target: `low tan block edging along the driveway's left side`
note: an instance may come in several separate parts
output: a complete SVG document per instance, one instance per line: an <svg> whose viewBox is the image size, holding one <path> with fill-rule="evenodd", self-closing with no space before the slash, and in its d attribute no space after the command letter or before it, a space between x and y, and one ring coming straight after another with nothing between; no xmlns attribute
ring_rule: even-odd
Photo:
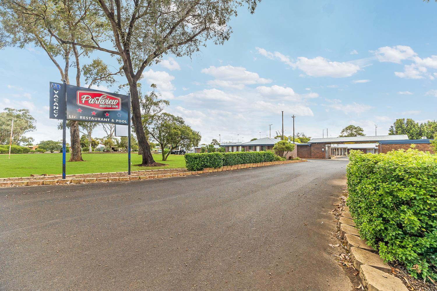
<svg viewBox="0 0 437 291"><path fill-rule="evenodd" d="M96 182L110 182L110 181L133 181L133 180L147 180L147 179L160 179L160 178L171 178L171 177L181 177L189 175L198 175L203 173L213 173L221 171L230 171L236 169L254 168L271 166L277 164L291 164L306 162L307 160L289 160L289 161L273 161L255 164L238 164L233 166L223 166L220 168L204 168L202 171L187 171L172 174L160 174L160 175L144 175L144 176L126 176L126 177L102 177L102 178L73 178L74 175L67 175L66 179L52 179L52 180L31 180L31 181L3 181L0 182L0 187L10 187L10 186L36 186L36 185L60 185L60 184L79 184L79 183L96 183ZM134 171L132 171L134 172ZM135 171L141 172L141 171ZM120 173L120 172L113 172ZM111 173L108 173L111 174ZM86 175L86 174L78 174ZM69 178L70 176L71 178ZM31 178L31 177L23 177ZM33 177L32 177L33 178Z"/></svg>

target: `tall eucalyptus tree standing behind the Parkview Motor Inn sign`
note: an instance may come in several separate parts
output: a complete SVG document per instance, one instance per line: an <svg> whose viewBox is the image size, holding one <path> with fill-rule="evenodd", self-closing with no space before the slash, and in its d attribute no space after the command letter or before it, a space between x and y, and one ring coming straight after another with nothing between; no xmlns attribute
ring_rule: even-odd
<svg viewBox="0 0 437 291"><path fill-rule="evenodd" d="M65 80L67 84L70 84L69 67L74 65L76 86L80 86L80 56L89 53L90 48L81 47L79 50L73 43L90 41L86 39L89 37L88 31L78 29L78 24L84 19L92 23L89 19L95 16L94 13L89 12L92 3L94 2L81 1L80 5L73 5L74 3L68 0L63 2L0 0L1 28L3 28L0 34L0 46L24 48L26 45L33 44L42 48L59 70L60 80ZM72 15L80 17L76 18ZM53 33L59 35L59 38L53 38L51 35ZM60 38L69 40L69 43L60 41ZM78 121L70 121L69 129L71 142L69 161L83 161Z"/></svg>

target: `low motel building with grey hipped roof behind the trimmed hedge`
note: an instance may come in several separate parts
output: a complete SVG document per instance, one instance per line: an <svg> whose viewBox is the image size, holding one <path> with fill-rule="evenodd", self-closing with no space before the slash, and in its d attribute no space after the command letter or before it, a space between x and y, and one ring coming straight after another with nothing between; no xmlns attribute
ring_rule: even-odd
<svg viewBox="0 0 437 291"><path fill-rule="evenodd" d="M229 142L229 143L221 143L220 146L225 148L225 152L234 152L234 151L269 151L273 150L274 144L276 144L281 139L272 138L272 137L264 137L257 140L248 141L246 143L242 142ZM298 144L298 143L295 143ZM293 151L288 152L287 157L297 157L297 147Z"/></svg>

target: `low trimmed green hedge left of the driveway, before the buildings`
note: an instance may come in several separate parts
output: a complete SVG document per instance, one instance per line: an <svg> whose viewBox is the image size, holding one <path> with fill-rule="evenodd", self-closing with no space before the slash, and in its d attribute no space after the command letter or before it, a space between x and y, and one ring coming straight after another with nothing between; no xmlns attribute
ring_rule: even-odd
<svg viewBox="0 0 437 291"><path fill-rule="evenodd" d="M253 164L274 161L274 154L268 151L237 151L231 153L185 154L185 163L190 171L203 168L219 168L236 164Z"/></svg>

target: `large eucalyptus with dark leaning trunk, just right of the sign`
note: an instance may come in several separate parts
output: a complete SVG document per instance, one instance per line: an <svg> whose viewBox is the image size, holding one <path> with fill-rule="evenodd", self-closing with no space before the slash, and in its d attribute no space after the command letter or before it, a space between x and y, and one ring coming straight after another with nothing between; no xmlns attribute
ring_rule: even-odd
<svg viewBox="0 0 437 291"><path fill-rule="evenodd" d="M10 1L10 0L3 0ZM42 1L42 0L40 0ZM82 0L64 0L82 6ZM228 22L247 5L250 13L260 0L94 0L99 7L90 10L92 17L76 13L57 15L77 24L76 31L88 33L83 40L68 38L59 31L49 33L62 44L80 46L106 52L118 60L129 84L132 102L132 123L142 151L142 164L153 164L152 154L144 133L138 92L138 81L147 66L160 62L163 54L191 56L206 46L208 41L218 45L230 37ZM47 2L41 2L46 5ZM47 5L46 5L47 6ZM51 17L50 7L45 11L26 11L38 14L43 22ZM52 20L51 20L52 21ZM54 21L56 22L56 21ZM97 24L97 25L96 25ZM99 25L103 24L103 25ZM100 26L100 27L99 27ZM99 29L96 30L96 27ZM105 34L110 41L95 36ZM91 40L89 42L88 40ZM111 45L112 46L111 46Z"/></svg>

